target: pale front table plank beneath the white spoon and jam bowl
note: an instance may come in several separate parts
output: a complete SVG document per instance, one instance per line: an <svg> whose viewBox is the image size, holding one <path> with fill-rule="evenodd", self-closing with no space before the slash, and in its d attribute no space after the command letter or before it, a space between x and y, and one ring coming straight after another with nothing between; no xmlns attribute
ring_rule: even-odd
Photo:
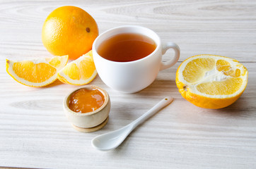
<svg viewBox="0 0 256 169"><path fill-rule="evenodd" d="M256 151L256 73L255 63L245 66L252 72L245 93L235 104L220 110L197 108L180 96L174 82L178 65L159 73L150 87L136 94L115 92L97 77L92 84L109 92L112 108L109 123L89 134L74 130L64 116L62 100L73 86L55 82L50 87L35 89L1 73L7 85L1 85L0 96L0 164L100 168L115 163L112 168L141 165L156 168L165 163L163 168L173 165L205 168L206 163L215 161L212 168L231 168L240 163L250 167L255 165ZM175 98L173 104L132 132L118 149L112 152L93 149L93 137L127 125L166 95Z"/></svg>

